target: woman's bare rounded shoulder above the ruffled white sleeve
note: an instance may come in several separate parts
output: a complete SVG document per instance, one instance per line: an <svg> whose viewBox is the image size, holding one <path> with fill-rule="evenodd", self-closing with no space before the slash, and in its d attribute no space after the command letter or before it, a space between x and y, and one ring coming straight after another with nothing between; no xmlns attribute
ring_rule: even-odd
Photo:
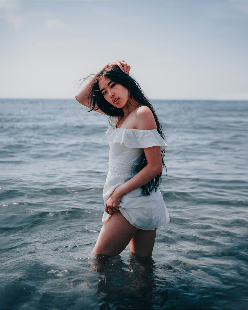
<svg viewBox="0 0 248 310"><path fill-rule="evenodd" d="M136 129L157 129L157 124L152 111L147 106L141 106L136 110Z"/></svg>

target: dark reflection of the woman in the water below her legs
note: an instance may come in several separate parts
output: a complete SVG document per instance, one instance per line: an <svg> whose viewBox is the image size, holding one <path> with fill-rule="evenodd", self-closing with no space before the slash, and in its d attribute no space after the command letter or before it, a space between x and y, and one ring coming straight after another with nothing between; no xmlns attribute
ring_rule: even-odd
<svg viewBox="0 0 248 310"><path fill-rule="evenodd" d="M97 295L100 309L151 309L155 286L155 263L152 257L129 255L97 256L91 267L99 274Z"/></svg>

